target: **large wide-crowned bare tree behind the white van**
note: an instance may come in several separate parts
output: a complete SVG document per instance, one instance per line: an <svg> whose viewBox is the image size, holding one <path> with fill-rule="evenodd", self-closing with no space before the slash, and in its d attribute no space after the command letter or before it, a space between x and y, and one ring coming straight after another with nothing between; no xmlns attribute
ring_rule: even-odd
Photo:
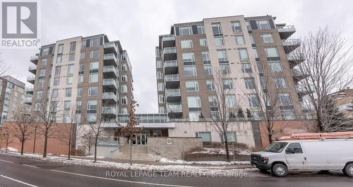
<svg viewBox="0 0 353 187"><path fill-rule="evenodd" d="M327 106L330 93L352 84L352 46L347 45L341 33L323 28L304 37L293 55L298 71L307 76L299 85L308 92L308 100L315 113L316 131L345 130L331 126L339 124L341 119L335 119Z"/></svg>

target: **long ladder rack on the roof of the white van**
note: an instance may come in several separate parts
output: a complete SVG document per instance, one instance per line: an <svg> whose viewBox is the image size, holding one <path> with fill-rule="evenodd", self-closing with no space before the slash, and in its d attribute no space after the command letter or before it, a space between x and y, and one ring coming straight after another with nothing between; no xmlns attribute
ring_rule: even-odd
<svg viewBox="0 0 353 187"><path fill-rule="evenodd" d="M282 136L277 140L312 140L312 139L343 139L353 138L353 131L335 133L294 133L289 136Z"/></svg>

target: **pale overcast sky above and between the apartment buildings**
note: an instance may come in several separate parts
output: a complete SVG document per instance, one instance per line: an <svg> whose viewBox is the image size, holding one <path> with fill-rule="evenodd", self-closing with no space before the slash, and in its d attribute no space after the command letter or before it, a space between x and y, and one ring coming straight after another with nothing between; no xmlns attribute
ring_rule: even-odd
<svg viewBox="0 0 353 187"><path fill-rule="evenodd" d="M132 64L138 113L157 113L155 46L158 36L169 34L174 23L220 16L277 17L275 23L294 25L292 38L301 38L328 26L353 45L353 1L238 1L238 0L42 0L42 45L76 36L106 34L120 40ZM30 56L37 49L0 49L8 75L24 83ZM26 83L30 85L30 83Z"/></svg>

